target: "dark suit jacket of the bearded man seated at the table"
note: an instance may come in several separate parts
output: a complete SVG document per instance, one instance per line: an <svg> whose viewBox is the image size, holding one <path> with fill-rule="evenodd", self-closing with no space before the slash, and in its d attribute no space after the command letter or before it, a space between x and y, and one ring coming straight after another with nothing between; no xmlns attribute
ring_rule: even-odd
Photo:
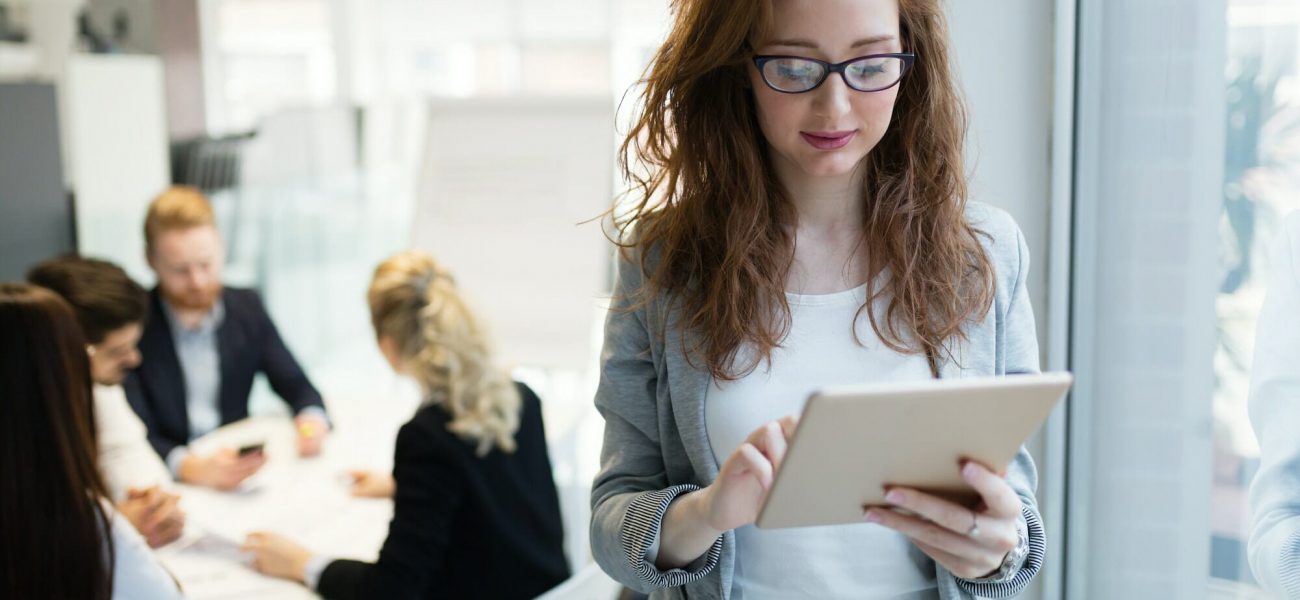
<svg viewBox="0 0 1300 600"><path fill-rule="evenodd" d="M177 445L190 442L190 416L186 408L185 373L172 339L172 326L162 312L157 288L151 294L151 309L140 336L140 366L122 386L131 408L150 431L150 443L166 458ZM280 339L276 325L252 290L228 287L221 291L225 319L217 327L217 355L221 362L221 423L248 416L248 392L257 373L265 373L272 390L296 414L307 406L321 406L320 392Z"/></svg>

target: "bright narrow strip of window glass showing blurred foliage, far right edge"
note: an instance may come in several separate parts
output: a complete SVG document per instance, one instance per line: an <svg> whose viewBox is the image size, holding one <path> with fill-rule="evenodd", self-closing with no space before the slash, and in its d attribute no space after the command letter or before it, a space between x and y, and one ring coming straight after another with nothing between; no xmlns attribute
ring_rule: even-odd
<svg viewBox="0 0 1300 600"><path fill-rule="evenodd" d="M1227 27L1210 577L1231 590L1254 581L1247 491L1260 448L1245 408L1266 253L1275 225L1300 209L1300 5L1232 0Z"/></svg>

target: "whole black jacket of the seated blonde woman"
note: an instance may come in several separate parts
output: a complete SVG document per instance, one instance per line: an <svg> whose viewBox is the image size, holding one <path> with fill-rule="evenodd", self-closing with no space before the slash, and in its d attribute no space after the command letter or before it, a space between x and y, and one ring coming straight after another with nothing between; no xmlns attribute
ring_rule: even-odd
<svg viewBox="0 0 1300 600"><path fill-rule="evenodd" d="M421 408L402 426L393 522L377 562L335 560L321 571L328 599L532 599L568 578L564 527L537 395L516 383L517 449L474 455L447 431L448 414Z"/></svg>

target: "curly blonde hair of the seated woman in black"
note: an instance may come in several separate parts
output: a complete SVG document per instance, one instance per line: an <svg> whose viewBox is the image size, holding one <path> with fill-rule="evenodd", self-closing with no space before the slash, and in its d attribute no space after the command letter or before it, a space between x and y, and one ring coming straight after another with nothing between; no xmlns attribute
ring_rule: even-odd
<svg viewBox="0 0 1300 600"><path fill-rule="evenodd" d="M374 269L368 292L377 338L396 343L402 360L429 395L451 414L447 430L477 447L515 451L520 396L506 371L491 364L486 335L432 256L408 251Z"/></svg>

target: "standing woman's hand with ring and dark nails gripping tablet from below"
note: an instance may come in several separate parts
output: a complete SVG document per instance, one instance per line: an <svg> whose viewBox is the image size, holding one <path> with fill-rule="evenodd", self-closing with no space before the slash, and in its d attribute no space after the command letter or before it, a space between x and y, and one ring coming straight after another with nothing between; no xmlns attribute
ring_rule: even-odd
<svg viewBox="0 0 1300 600"><path fill-rule="evenodd" d="M930 494L892 487L885 500L915 516L883 506L867 509L870 522L906 535L916 548L962 579L989 577L1019 542L1020 497L1001 477L967 461L962 478L984 499L972 510Z"/></svg>

